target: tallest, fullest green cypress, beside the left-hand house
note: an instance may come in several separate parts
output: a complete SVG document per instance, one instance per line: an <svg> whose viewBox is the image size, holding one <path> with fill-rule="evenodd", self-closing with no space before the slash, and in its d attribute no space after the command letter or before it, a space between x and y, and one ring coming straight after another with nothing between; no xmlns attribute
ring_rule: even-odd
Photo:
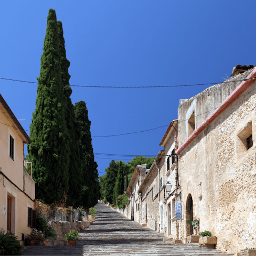
<svg viewBox="0 0 256 256"><path fill-rule="evenodd" d="M33 162L36 198L51 204L68 192L69 148L65 122L67 101L61 79L61 53L56 13L49 10L36 108L30 125L28 161Z"/></svg>

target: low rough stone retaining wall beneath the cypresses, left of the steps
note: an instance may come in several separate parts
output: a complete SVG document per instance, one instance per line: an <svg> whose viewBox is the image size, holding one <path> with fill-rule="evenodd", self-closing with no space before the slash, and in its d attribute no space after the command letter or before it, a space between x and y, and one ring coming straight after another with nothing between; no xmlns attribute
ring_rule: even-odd
<svg viewBox="0 0 256 256"><path fill-rule="evenodd" d="M72 230L80 231L82 229L89 227L91 224L91 221L77 221L76 223L67 221L51 221L49 223L49 226L53 228L55 234L57 235L57 239L49 239L47 245L64 244L66 243L65 234L70 233Z"/></svg>

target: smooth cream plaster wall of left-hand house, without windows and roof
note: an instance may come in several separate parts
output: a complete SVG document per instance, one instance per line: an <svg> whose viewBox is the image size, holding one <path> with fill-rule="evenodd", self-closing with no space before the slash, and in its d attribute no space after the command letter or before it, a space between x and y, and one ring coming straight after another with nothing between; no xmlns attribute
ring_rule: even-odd
<svg viewBox="0 0 256 256"><path fill-rule="evenodd" d="M13 126L6 114L0 111L0 122ZM10 135L14 139L14 160L9 156ZM10 179L0 174L0 228L7 229L7 195L12 197L11 231L21 240L21 234L28 235L31 228L27 226L28 207L34 209L35 181L23 168L23 142L14 127L0 125L0 171ZM25 195L25 193L27 195ZM30 197L30 198L29 198Z"/></svg>

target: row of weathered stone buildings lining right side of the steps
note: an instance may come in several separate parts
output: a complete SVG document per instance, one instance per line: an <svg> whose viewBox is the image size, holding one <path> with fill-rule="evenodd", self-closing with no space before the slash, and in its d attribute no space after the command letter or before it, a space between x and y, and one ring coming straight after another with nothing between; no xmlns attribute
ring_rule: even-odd
<svg viewBox="0 0 256 256"><path fill-rule="evenodd" d="M180 100L164 149L143 180L133 174L141 201L134 220L184 243L195 235L187 221L198 220L199 231L218 238L218 249L256 247L256 67L241 67L233 78Z"/></svg>

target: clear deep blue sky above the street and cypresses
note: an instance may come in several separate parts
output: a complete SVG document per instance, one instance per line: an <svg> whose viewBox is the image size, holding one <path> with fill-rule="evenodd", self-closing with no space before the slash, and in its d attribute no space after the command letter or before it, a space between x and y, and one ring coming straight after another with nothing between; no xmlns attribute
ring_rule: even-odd
<svg viewBox="0 0 256 256"><path fill-rule="evenodd" d="M0 77L36 82L52 8L63 25L70 85L219 83L238 64L256 65L255 7L255 0L5 1L0 10ZM91 134L97 137L169 125L178 117L179 100L208 86L72 87L71 100L86 102ZM0 93L14 115L27 119L20 121L25 130L36 89L36 84L0 79ZM166 129L93 138L94 153L157 155ZM111 159L127 162L132 157L95 155L99 175Z"/></svg>

